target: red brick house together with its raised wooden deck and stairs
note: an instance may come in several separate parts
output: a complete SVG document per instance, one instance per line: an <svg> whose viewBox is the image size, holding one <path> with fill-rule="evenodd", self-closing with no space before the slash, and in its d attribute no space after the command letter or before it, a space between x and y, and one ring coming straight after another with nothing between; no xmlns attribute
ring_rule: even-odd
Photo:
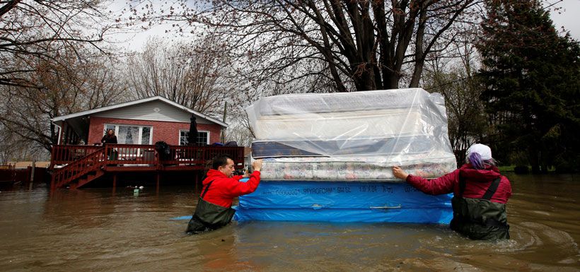
<svg viewBox="0 0 580 272"><path fill-rule="evenodd" d="M197 143L190 145L193 118ZM160 96L66 114L52 124L59 135L50 159L52 189L79 188L98 179L115 188L117 179L133 179L138 173L155 177L157 189L162 175L179 172L197 183L207 160L219 154L231 156L238 170L244 167L243 147L211 145L220 141L226 123ZM117 144L101 146L109 129ZM167 145L156 145L158 141Z"/></svg>

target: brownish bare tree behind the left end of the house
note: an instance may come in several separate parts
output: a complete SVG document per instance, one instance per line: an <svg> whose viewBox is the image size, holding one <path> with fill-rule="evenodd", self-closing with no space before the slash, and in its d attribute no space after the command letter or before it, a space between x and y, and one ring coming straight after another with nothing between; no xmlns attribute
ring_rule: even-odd
<svg viewBox="0 0 580 272"><path fill-rule="evenodd" d="M50 119L119 102L124 86L108 58L81 61L73 50L58 54L53 57L58 61L26 64L37 71L25 78L35 87L0 85L6 95L0 102L0 124L8 138L18 140L15 143L50 151L57 142L57 130Z"/></svg>

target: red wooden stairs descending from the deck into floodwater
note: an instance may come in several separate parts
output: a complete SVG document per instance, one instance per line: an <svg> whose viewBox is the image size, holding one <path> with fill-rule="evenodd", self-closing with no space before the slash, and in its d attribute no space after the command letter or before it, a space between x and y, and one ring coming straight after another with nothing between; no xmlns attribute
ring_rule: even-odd
<svg viewBox="0 0 580 272"><path fill-rule="evenodd" d="M105 175L102 169L105 166L105 149L99 148L79 160L54 170L52 173L51 188L70 187L79 188Z"/></svg>

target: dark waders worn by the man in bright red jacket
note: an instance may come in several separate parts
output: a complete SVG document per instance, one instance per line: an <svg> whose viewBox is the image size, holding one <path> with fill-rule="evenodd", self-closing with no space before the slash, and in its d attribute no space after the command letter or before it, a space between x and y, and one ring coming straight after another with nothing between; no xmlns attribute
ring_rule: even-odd
<svg viewBox="0 0 580 272"><path fill-rule="evenodd" d="M199 197L195 212L190 223L187 224L186 232L197 234L199 232L219 229L220 227L224 227L224 225L228 225L231 222L231 218L233 218L233 214L236 213L236 210L233 208L222 207L204 200L204 196L212 182L214 181L212 180L207 184L204 192Z"/></svg>

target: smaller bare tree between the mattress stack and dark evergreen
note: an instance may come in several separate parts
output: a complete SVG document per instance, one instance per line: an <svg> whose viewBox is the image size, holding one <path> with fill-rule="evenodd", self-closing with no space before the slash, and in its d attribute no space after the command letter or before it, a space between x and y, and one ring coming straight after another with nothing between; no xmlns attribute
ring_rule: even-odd
<svg viewBox="0 0 580 272"><path fill-rule="evenodd" d="M474 25L465 25L450 52L429 55L423 78L427 90L445 97L449 140L460 164L465 161L465 150L489 132L489 117L480 100L484 87L474 74L480 64L473 43L478 35Z"/></svg>

